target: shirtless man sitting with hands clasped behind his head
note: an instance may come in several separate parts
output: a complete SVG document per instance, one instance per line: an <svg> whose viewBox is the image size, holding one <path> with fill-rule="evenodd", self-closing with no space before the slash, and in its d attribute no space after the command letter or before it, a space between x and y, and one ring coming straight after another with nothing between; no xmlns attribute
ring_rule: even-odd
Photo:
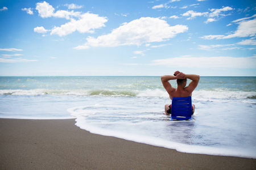
<svg viewBox="0 0 256 170"><path fill-rule="evenodd" d="M187 78L191 79L192 82L189 83L187 87ZM177 88L171 86L168 82L169 80L177 79ZM163 83L163 87L168 92L170 99L172 97L188 97L192 96L192 92L195 90L197 84L199 83L200 76L195 74L184 74L180 71L175 71L174 75L163 75L161 76L161 81ZM192 114L195 112L195 105L192 104ZM171 114L171 105L166 104L164 106L164 111L166 115Z"/></svg>

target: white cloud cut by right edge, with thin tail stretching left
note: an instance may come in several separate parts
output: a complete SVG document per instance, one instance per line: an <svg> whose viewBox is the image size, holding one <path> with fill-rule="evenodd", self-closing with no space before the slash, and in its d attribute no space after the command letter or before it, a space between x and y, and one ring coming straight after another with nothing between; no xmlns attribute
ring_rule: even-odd
<svg viewBox="0 0 256 170"><path fill-rule="evenodd" d="M230 39L234 37L253 37L256 35L256 19L245 20L238 23L237 31L233 34L224 35L208 35L201 37L202 39Z"/></svg>

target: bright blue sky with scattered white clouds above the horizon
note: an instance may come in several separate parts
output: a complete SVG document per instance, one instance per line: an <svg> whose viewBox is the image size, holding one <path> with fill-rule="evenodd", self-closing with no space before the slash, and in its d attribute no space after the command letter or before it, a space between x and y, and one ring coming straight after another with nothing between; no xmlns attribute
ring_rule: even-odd
<svg viewBox="0 0 256 170"><path fill-rule="evenodd" d="M256 76L255 1L0 1L0 75Z"/></svg>

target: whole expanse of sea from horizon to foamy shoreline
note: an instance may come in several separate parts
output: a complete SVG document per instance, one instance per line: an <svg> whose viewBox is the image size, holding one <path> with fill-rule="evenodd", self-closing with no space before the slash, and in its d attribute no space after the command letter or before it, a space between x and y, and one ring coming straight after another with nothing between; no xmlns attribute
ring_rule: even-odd
<svg viewBox="0 0 256 170"><path fill-rule="evenodd" d="M192 103L191 121L170 121L160 76L0 76L1 118L76 118L95 134L256 159L256 77L201 77Z"/></svg>

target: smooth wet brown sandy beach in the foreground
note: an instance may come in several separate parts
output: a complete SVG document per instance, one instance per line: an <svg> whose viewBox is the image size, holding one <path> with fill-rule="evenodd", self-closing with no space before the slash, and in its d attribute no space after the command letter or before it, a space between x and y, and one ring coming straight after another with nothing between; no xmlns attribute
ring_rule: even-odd
<svg viewBox="0 0 256 170"><path fill-rule="evenodd" d="M256 169L255 159L185 154L92 134L74 119L0 119L0 127L0 169Z"/></svg>

